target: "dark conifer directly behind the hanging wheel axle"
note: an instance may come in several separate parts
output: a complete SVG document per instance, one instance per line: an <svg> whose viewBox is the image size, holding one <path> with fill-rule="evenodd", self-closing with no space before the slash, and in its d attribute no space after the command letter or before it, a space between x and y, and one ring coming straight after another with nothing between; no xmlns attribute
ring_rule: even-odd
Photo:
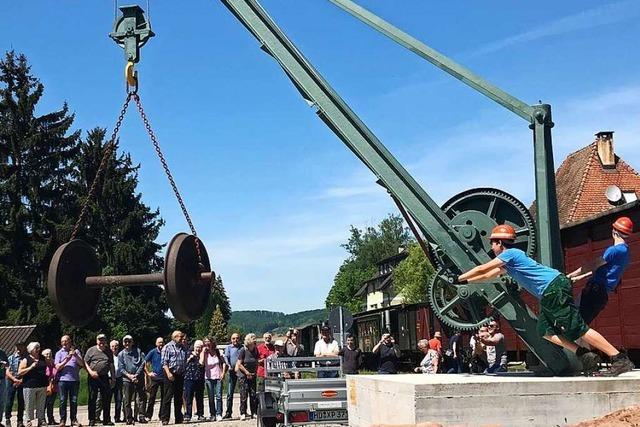
<svg viewBox="0 0 640 427"><path fill-rule="evenodd" d="M76 194L84 200L105 151L105 129L88 132L74 163ZM138 169L129 154L112 153L90 202L86 224L79 238L98 254L103 274L141 274L163 267L155 243L163 221L158 210L146 206L137 192ZM155 286L103 289L94 322L83 329L101 330L116 339L134 335L144 347L169 332L167 303Z"/></svg>

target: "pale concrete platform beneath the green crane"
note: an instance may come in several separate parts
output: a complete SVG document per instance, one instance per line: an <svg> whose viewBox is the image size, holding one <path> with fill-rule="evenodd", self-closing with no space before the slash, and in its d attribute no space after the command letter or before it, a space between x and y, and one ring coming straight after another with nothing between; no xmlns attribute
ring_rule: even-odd
<svg viewBox="0 0 640 427"><path fill-rule="evenodd" d="M615 378L349 375L349 425L562 426L640 404L640 370Z"/></svg>

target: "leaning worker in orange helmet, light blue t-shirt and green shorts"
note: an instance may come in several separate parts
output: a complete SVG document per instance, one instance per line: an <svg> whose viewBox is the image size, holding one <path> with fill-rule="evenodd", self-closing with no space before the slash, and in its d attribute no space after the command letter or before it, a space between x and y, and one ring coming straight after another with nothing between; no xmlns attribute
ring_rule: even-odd
<svg viewBox="0 0 640 427"><path fill-rule="evenodd" d="M598 369L599 357L578 346L575 343L578 338L611 358L612 366L605 375L618 376L632 370L634 365L627 355L619 352L584 322L573 302L570 279L512 247L515 239L516 232L512 226L505 224L494 227L489 240L496 257L458 276L457 282L478 282L508 274L540 301L538 333L546 340L576 353L586 374Z"/></svg>

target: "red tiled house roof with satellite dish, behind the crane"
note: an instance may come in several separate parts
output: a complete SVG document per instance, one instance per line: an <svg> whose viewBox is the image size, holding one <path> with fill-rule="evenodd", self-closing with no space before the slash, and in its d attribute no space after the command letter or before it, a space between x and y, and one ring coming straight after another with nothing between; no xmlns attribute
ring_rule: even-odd
<svg viewBox="0 0 640 427"><path fill-rule="evenodd" d="M556 172L560 224L614 208L604 194L610 185L640 193L640 175L618 156L615 168L603 168L595 142L567 156Z"/></svg>

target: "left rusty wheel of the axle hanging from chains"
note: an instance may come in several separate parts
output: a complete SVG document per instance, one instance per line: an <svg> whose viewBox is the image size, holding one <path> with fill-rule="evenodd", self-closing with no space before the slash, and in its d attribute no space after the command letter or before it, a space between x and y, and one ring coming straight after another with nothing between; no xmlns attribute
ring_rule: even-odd
<svg viewBox="0 0 640 427"><path fill-rule="evenodd" d="M47 290L62 320L84 326L93 319L100 301L100 290L89 289L85 279L98 274L100 263L88 243L76 239L58 248L49 264Z"/></svg>

